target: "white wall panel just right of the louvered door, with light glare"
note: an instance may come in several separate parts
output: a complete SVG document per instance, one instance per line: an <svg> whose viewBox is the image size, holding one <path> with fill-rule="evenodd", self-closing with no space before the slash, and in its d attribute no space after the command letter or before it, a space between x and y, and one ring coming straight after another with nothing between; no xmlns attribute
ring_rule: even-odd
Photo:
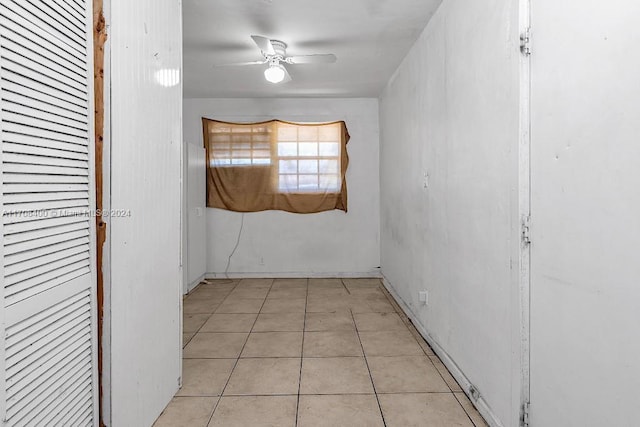
<svg viewBox="0 0 640 427"><path fill-rule="evenodd" d="M110 203L131 216L107 229L107 393L110 425L140 427L153 424L181 375L181 1L110 6Z"/></svg>

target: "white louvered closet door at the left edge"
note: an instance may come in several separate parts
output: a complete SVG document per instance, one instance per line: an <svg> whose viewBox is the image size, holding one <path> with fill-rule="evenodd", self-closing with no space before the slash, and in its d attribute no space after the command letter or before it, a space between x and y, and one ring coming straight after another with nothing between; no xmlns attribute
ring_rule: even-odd
<svg viewBox="0 0 640 427"><path fill-rule="evenodd" d="M97 425L90 0L0 0L6 425Z"/></svg>

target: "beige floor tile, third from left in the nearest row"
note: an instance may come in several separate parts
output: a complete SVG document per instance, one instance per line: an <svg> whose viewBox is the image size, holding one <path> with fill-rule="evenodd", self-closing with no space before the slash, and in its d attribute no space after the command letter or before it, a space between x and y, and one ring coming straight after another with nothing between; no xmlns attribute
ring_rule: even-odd
<svg viewBox="0 0 640 427"><path fill-rule="evenodd" d="M373 394L300 396L299 427L382 427Z"/></svg>

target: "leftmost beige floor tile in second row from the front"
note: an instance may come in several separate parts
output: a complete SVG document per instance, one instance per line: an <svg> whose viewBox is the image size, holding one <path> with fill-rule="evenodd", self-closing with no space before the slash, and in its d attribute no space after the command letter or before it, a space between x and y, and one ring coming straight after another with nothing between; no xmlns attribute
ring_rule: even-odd
<svg viewBox="0 0 640 427"><path fill-rule="evenodd" d="M219 396L236 359L184 359L182 388L176 396Z"/></svg>

